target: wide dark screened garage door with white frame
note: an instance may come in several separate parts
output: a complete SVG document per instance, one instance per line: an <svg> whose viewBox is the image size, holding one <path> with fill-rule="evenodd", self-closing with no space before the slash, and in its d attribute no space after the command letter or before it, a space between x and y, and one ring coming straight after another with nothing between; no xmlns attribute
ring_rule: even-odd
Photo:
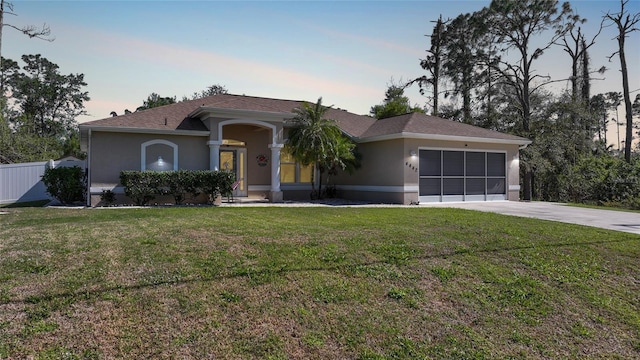
<svg viewBox="0 0 640 360"><path fill-rule="evenodd" d="M420 201L506 200L506 153L420 150Z"/></svg>

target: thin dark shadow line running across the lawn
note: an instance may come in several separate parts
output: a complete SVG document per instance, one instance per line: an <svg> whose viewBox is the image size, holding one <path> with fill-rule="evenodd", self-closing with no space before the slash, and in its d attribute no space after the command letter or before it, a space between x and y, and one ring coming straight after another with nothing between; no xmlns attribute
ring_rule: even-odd
<svg viewBox="0 0 640 360"><path fill-rule="evenodd" d="M387 259L378 260L378 261L339 264L339 265L327 265L322 267L287 268L286 264L281 264L279 268L275 268L275 269L274 268L260 269L260 270L239 269L238 271L232 271L228 274L196 277L192 279L178 278L178 279L172 279L172 280L160 280L160 281L153 281L153 282L133 284L133 285L116 285L116 286L106 287L102 289L94 289L94 290L79 290L79 291L63 292L58 294L30 295L23 299L9 300L5 298L5 299L0 299L0 305L38 304L42 302L55 301L55 300L63 300L62 302L67 303L68 301L73 302L73 299L75 298L90 299L90 298L93 298L102 294L106 294L106 293L111 293L111 292L139 290L139 289L151 288L156 286L165 286L165 285L190 284L190 283L233 279L233 278L241 278L241 277L258 278L258 277L264 277L264 276L275 276L275 275L281 275L286 273L305 272L305 271L341 271L341 270L356 269L358 267L363 267L363 266L374 266L374 265L381 265L381 264L401 265L402 263L406 263L410 260L428 260L428 259L437 259L437 258L448 258L456 255L468 255L468 254L474 254L474 253L497 253L497 252L510 252L510 251L518 251L518 250L529 250L529 249L536 249L536 248L561 248L561 247L573 247L573 246L589 246L589 245L599 245L599 244L624 243L624 242L630 242L630 241L640 241L640 237L632 235L632 236L629 236L628 238L620 239L620 240L563 242L563 243L554 243L554 244L542 244L542 245L536 244L536 245L527 245L527 246L512 246L512 247L487 248L487 249L473 249L473 248L459 249L459 250L446 251L446 252L440 252L440 253L429 254L429 255L407 256L402 259L387 258Z"/></svg>

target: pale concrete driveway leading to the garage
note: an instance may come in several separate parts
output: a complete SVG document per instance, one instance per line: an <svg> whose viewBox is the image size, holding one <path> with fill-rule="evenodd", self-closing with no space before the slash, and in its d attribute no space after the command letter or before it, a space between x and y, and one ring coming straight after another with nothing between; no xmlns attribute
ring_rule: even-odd
<svg viewBox="0 0 640 360"><path fill-rule="evenodd" d="M422 206L422 205L421 205ZM504 215L560 221L594 226L640 235L640 213L615 210L587 209L560 203L491 201L469 203L438 203L424 206L455 207L494 212Z"/></svg>

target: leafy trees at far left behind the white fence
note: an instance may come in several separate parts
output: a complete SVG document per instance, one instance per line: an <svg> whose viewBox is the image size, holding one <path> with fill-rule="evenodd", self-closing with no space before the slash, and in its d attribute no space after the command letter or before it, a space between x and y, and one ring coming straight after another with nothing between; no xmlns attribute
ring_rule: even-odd
<svg viewBox="0 0 640 360"><path fill-rule="evenodd" d="M84 75L61 74L41 55L21 60L2 58L0 163L82 158L76 118L89 100Z"/></svg>

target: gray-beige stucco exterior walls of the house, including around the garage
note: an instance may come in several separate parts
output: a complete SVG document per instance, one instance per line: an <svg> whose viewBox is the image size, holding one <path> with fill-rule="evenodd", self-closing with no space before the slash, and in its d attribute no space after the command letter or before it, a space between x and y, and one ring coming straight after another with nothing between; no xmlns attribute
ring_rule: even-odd
<svg viewBox="0 0 640 360"><path fill-rule="evenodd" d="M209 123L212 134L217 124ZM220 119L219 121L224 121ZM215 124L215 125L214 125ZM212 126L213 125L213 126ZM247 186L249 195L266 196L271 184L272 152L269 146L274 137L281 136L281 127L273 130L259 124L228 124L223 126L222 138L243 141L247 149ZM119 184L120 171L141 169L141 144L152 140L169 141L178 147L178 169L209 169L209 136L179 136L164 134L127 134L93 131L90 139L91 186L113 189ZM225 146L221 146L224 149ZM233 147L230 147L233 148ZM338 196L370 202L412 204L418 202L418 157L411 156L420 149L456 149L504 151L507 159L507 195L519 199L518 145L474 142L395 139L358 144L362 166L352 175L340 172L332 178ZM259 166L256 158L265 155L267 166ZM147 147L146 156L173 161L172 148L163 144ZM301 187L302 186L302 187ZM308 199L306 184L283 185L285 199ZM94 195L98 190L94 191ZM93 203L93 201L92 201Z"/></svg>

